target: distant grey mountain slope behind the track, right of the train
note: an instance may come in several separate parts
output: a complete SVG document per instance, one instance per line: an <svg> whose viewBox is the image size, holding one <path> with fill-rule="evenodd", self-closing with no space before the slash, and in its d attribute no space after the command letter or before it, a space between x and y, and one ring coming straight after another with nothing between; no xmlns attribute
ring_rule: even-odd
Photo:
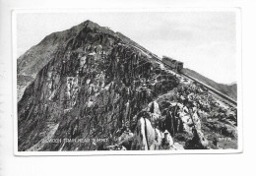
<svg viewBox="0 0 256 176"><path fill-rule="evenodd" d="M212 88L218 89L219 91L223 92L224 94L228 95L229 97L233 98L234 100L237 99L237 85L236 84L232 84L232 85L219 84L219 83L216 83L216 82L204 77L203 75L201 75L193 70L187 69L187 68L183 69L183 73L209 85Z"/></svg>

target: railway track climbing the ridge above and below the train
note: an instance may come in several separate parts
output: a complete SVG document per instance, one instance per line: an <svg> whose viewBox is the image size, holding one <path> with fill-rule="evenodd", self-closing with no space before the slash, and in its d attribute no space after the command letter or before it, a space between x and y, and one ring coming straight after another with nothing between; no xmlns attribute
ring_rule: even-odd
<svg viewBox="0 0 256 176"><path fill-rule="evenodd" d="M165 68L168 68L168 69L170 69L170 70L172 71L172 68L171 68L168 64L162 62L162 61L160 60L160 58L158 58L157 56L150 55L148 52L144 51L143 49L141 49L141 48L139 48L139 47L137 47L137 46L134 46L134 45L131 45L131 44L130 44L130 46L132 46L132 47L134 47L134 48L136 48L136 49L139 49L139 50L142 51L144 54L150 56L151 58L153 58L153 59L156 60L157 62L160 62L161 64L163 64L163 65L165 66ZM186 79L189 79L189 80L191 80L191 81L193 81L193 82L196 82L196 83L202 85L203 87L207 88L210 93L212 93L212 94L214 94L214 95L217 95L217 96L218 96L220 99L222 99L225 103L230 104L230 105L235 106L235 107L237 106L237 102L236 102L235 100L233 100L232 98L228 97L227 95L225 95L223 92L217 90L216 88L212 88L212 87L210 87L210 86L208 86L208 85L206 85L206 84L200 82L199 80L197 80L197 79L195 79L195 78L193 78L193 77L190 77L190 76L188 76L188 75L186 75L186 74L184 74L184 73L182 73L182 72L181 72L181 73L177 73L177 74L179 74L179 75L182 76L183 78L185 77Z"/></svg>

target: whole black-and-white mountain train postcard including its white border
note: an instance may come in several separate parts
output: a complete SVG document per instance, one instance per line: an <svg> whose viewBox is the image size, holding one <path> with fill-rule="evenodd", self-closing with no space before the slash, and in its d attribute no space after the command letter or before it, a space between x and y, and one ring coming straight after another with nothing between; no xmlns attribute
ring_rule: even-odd
<svg viewBox="0 0 256 176"><path fill-rule="evenodd" d="M16 154L241 151L239 9L12 20Z"/></svg>

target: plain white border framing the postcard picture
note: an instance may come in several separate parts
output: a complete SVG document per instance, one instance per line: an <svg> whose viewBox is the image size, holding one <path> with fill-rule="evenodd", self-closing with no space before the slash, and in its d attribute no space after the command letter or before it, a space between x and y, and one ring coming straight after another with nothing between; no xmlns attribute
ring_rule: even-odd
<svg viewBox="0 0 256 176"><path fill-rule="evenodd" d="M184 150L85 150L85 151L19 151L17 114L17 15L20 13L100 13L100 12L226 12L236 13L236 71L237 71L237 149L184 149ZM12 64L13 64L13 123L14 154L17 156L42 155L161 155L161 154L224 154L243 152L242 113L242 58L241 58L241 9L240 8L123 8L123 9L13 9L12 11Z"/></svg>

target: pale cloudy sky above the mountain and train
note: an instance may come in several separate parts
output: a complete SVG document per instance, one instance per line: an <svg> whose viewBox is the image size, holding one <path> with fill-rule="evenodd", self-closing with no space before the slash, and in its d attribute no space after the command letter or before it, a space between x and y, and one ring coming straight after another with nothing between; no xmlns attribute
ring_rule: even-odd
<svg viewBox="0 0 256 176"><path fill-rule="evenodd" d="M236 82L235 12L101 12L17 15L18 56L45 35L86 20L120 31L155 54L219 83Z"/></svg>

